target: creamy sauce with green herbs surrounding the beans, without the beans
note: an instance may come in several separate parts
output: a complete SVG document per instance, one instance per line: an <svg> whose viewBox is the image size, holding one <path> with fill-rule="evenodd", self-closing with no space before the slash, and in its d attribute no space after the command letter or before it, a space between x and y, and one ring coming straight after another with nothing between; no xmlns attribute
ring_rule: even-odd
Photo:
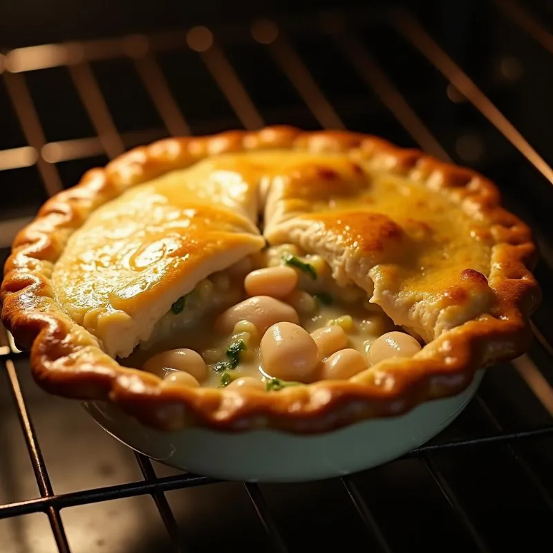
<svg viewBox="0 0 553 553"><path fill-rule="evenodd" d="M216 330L215 321L227 308L247 298L244 278L250 270L283 265L283 260L290 255L294 255L300 266L306 263L308 268L294 268L299 276L297 289L283 301L297 310L299 324L308 332L328 325L341 326L348 339L346 347L366 355L377 337L397 330L378 306L368 303L365 292L353 285L337 285L330 276L330 268L319 256L283 245L270 247L200 282L187 294L180 312L168 312L156 325L149 341L120 361L127 366L142 367L147 359L160 352L189 348L200 353L207 364L208 375L201 383L203 386L219 387L221 382L245 376L267 381L274 375L261 364L262 336L256 328L242 321L233 332L225 334ZM316 272L316 279L312 278L312 271ZM227 355L229 346L231 357ZM229 359L237 361L234 368L229 368ZM321 357L321 361L325 359ZM223 364L226 368L221 369ZM165 374L168 373L171 373L170 367L165 369Z"/></svg>

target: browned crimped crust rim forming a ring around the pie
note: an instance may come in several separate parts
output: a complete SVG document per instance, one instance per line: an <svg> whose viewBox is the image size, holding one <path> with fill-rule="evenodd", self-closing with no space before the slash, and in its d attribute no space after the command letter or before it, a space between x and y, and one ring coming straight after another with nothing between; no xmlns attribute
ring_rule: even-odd
<svg viewBox="0 0 553 553"><path fill-rule="evenodd" d="M217 153L268 148L359 149L366 160L392 174L447 191L472 217L489 224L494 239L489 286L497 297L493 312L444 332L415 359L384 361L350 381L317 382L275 393L162 388L155 375L120 366L53 299L50 274L68 237L95 208L133 185ZM489 180L420 151L369 135L303 132L288 126L168 138L135 148L104 169L91 169L77 186L44 204L17 234L6 262L2 321L17 344L31 348L35 379L52 393L113 402L144 424L164 430L196 425L319 433L357 420L399 415L421 402L455 395L478 368L523 353L531 335L529 316L541 297L530 272L535 261L529 228L500 207L498 190ZM467 270L463 277L469 288L482 284L478 272ZM452 301L462 303L462 297Z"/></svg>

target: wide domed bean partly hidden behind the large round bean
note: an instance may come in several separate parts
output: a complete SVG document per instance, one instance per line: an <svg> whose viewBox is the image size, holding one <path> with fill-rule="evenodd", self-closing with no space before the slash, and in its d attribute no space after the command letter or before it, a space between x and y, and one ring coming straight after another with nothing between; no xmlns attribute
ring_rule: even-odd
<svg viewBox="0 0 553 553"><path fill-rule="evenodd" d="M225 334L234 329L238 321L248 321L255 325L260 335L275 323L287 321L298 323L296 310L278 299L269 296L254 296L245 299L236 306L232 306L223 312L216 321L216 328Z"/></svg>

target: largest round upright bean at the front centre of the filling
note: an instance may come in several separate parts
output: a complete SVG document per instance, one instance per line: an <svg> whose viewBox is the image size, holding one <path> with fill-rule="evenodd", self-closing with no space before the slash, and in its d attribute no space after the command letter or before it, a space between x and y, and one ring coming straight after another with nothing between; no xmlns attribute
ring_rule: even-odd
<svg viewBox="0 0 553 553"><path fill-rule="evenodd" d="M271 326L261 339L260 352L268 375L299 382L310 382L321 358L307 330L290 322Z"/></svg>

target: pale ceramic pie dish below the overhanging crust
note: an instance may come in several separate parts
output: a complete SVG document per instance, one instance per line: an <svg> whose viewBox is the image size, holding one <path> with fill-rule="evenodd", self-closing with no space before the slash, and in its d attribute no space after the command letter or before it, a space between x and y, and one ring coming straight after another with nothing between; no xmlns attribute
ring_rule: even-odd
<svg viewBox="0 0 553 553"><path fill-rule="evenodd" d="M405 415L358 422L318 435L199 428L162 432L144 427L113 404L83 405L113 437L166 465L225 480L302 482L382 465L424 444L462 413L483 374L478 371L462 393L425 402Z"/></svg>

